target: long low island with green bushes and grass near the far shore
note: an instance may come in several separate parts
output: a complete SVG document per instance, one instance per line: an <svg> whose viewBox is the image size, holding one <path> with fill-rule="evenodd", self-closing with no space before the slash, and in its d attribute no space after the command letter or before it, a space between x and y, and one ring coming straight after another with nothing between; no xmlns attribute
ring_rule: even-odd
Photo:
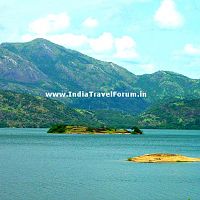
<svg viewBox="0 0 200 200"><path fill-rule="evenodd" d="M139 129L138 129L139 130ZM142 134L127 129L115 129L108 127L92 128L86 126L73 126L73 125L53 125L48 133L57 134Z"/></svg>

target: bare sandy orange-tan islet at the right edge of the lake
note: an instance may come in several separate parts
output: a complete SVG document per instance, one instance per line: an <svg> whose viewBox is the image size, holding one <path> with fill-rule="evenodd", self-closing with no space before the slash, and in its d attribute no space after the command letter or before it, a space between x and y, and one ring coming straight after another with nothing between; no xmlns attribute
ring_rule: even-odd
<svg viewBox="0 0 200 200"><path fill-rule="evenodd" d="M191 158L179 154L155 153L128 158L128 161L138 163L200 162L200 158Z"/></svg>

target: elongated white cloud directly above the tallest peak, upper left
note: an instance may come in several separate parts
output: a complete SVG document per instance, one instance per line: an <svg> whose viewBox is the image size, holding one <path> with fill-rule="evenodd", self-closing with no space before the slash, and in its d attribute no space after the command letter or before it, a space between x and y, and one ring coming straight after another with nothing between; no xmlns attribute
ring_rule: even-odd
<svg viewBox="0 0 200 200"><path fill-rule="evenodd" d="M66 13L50 14L44 18L39 18L29 25L32 33L45 35L47 33L56 32L67 28L70 19Z"/></svg>

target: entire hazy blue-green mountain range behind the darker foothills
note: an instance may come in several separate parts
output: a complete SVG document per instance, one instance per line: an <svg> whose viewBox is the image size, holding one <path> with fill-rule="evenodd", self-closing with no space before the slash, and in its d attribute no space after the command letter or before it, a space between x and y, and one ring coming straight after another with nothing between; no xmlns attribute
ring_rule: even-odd
<svg viewBox="0 0 200 200"><path fill-rule="evenodd" d="M45 92L147 92L147 98L60 99L74 108L141 113L168 98L200 98L200 80L159 71L136 76L112 62L103 62L45 39L0 45L0 86L44 96Z"/></svg>

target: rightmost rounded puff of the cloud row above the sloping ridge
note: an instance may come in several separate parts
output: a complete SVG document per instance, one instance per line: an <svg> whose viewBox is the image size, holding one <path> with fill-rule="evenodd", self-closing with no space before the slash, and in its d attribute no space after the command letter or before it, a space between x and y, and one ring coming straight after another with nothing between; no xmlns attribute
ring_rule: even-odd
<svg viewBox="0 0 200 200"><path fill-rule="evenodd" d="M114 57L121 59L135 59L138 54L135 50L136 42L129 36L115 39L116 53Z"/></svg>

